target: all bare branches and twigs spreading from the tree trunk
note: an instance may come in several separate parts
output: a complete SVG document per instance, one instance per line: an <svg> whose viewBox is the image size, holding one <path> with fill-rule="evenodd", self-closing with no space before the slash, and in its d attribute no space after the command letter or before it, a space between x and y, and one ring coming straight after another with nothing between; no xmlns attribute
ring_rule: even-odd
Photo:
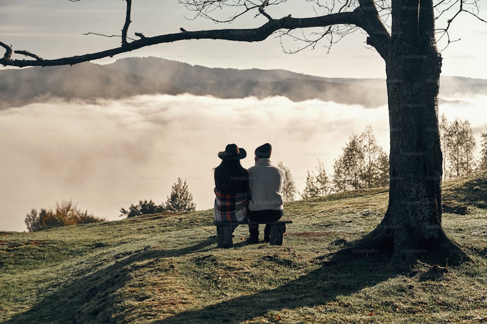
<svg viewBox="0 0 487 324"><path fill-rule="evenodd" d="M77 2L79 0L70 1ZM300 46L297 51L301 51L305 48L315 48L317 42L325 38L329 42L329 45L325 45L329 51L332 44L335 44L338 40L343 38L343 36L354 32L357 28L361 28L368 34L367 44L374 47L375 50L377 50L378 53L384 58L389 45L390 30L392 29L392 27L388 24L388 21L391 19L392 0L306 0L307 2L314 3L313 10L315 11L317 17L294 18L289 15L281 19L272 18L271 14L269 14L266 9L270 8L271 6L281 4L285 2L285 0L179 0L179 3L183 4L187 7L187 9L195 13L193 19L196 17L204 17L211 19L214 22L231 23L236 18L254 10L257 11L256 17L262 15L266 17L268 21L261 27L254 29L223 29L190 32L186 31L184 28L180 28L181 33L178 34L163 34L154 37L146 37L141 33L135 33L135 35L140 37L140 39L132 39L128 37L128 29L131 23L132 0L124 1L126 1L127 8L125 24L122 28L122 35L120 36L122 39L122 45L119 48L53 60L42 60L37 55L34 55L28 51L14 51L15 53L31 56L36 60L12 60L12 47L0 42L0 46L6 50L3 58L0 59L0 64L18 67L72 65L107 56L112 57L120 53L133 51L154 44L168 43L178 40L206 38L254 42L261 41L278 31L279 36L290 36L291 39L295 41L307 43L307 45L304 47ZM466 12L474 17L477 17L479 20L486 22L486 20L478 16L478 1L479 0L437 0L437 3L433 5L436 17L441 17L446 12L450 12L452 9L454 9L455 6L459 6L454 15L448 19L447 26L443 29L435 30L436 34L441 34L438 40L446 37L447 46L451 42L456 41L450 39L449 28L452 21L462 12ZM419 0L411 1L412 4L417 2L419 2ZM471 7L468 7L467 5ZM225 14L222 11L223 8L230 9L233 12L231 17L224 19L212 17L215 14ZM319 15L317 13L317 9L323 10L325 15ZM323 28L323 32L312 32L309 34L309 36L306 36L304 33L302 36L297 36L295 33L291 33L291 31L309 27L321 27ZM119 35L105 35L97 33L87 34L101 35L105 37L119 37ZM336 40L336 36L338 36L338 40ZM128 40L130 40L131 43L129 43Z"/></svg>

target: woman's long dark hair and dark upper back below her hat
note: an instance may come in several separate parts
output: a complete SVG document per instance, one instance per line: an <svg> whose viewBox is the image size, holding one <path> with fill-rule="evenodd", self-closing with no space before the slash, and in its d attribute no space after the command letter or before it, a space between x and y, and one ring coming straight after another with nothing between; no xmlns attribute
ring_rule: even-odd
<svg viewBox="0 0 487 324"><path fill-rule="evenodd" d="M222 160L214 169L215 187L225 193L249 191L248 172L240 164L240 160Z"/></svg>

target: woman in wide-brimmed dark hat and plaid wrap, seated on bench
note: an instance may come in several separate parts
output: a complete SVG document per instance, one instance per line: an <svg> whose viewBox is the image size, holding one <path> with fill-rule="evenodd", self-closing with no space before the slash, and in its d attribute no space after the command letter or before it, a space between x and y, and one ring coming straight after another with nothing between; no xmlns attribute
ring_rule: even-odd
<svg viewBox="0 0 487 324"><path fill-rule="evenodd" d="M240 164L247 153L235 144L228 144L218 153L222 162L215 171L215 220L248 222L250 188L248 172ZM236 226L235 226L236 227Z"/></svg>

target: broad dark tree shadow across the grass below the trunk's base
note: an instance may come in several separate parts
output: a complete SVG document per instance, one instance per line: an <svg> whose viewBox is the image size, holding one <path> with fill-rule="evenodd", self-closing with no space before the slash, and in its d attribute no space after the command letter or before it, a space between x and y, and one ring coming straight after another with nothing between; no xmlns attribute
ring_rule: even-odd
<svg viewBox="0 0 487 324"><path fill-rule="evenodd" d="M390 268L389 261L366 257L334 256L318 270L305 274L279 288L217 302L201 309L175 314L152 324L167 323L229 323L265 316L268 312L287 308L315 307L351 295L365 287L400 274ZM269 319L279 322L277 319ZM304 322L303 322L304 323Z"/></svg>

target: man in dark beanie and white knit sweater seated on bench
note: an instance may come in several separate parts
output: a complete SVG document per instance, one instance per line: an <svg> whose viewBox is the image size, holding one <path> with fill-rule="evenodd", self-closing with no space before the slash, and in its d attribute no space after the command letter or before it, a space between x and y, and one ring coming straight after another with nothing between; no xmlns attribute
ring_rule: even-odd
<svg viewBox="0 0 487 324"><path fill-rule="evenodd" d="M272 146L265 143L255 149L255 166L248 169L250 221L275 222L282 217L284 171L271 164ZM250 243L259 242L259 225L249 225ZM270 241L271 226L265 225L264 242Z"/></svg>

